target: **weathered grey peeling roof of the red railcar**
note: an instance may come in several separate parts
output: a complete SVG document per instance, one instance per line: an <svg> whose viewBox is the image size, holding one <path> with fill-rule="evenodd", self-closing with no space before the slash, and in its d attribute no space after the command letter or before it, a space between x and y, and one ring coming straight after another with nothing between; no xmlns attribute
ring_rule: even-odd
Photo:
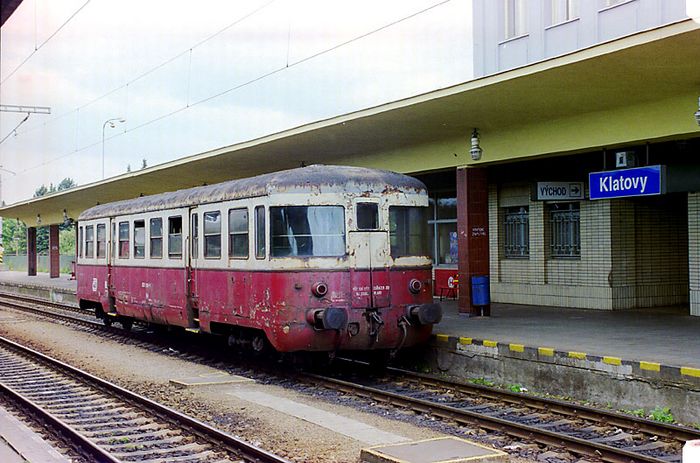
<svg viewBox="0 0 700 463"><path fill-rule="evenodd" d="M388 170L313 165L214 185L101 204L84 211L78 220L176 209L197 204L254 198L273 193L303 193L307 191L309 193L334 193L353 190L361 195L385 191L419 193L425 191L426 188L421 181L413 177Z"/></svg>

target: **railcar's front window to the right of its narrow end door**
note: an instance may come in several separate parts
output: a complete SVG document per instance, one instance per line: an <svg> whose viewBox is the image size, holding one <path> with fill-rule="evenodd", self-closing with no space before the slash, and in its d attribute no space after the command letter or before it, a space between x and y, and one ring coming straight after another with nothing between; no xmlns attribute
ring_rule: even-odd
<svg viewBox="0 0 700 463"><path fill-rule="evenodd" d="M428 208L389 207L391 257L430 256L428 251Z"/></svg>

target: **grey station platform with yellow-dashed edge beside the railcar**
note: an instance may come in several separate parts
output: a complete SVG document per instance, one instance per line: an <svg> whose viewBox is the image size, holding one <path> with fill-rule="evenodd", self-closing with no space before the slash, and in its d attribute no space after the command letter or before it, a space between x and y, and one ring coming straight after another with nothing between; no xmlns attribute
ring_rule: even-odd
<svg viewBox="0 0 700 463"><path fill-rule="evenodd" d="M76 281L0 271L0 291L75 302ZM518 384L630 410L670 408L700 423L700 317L687 308L625 311L492 304L490 317L460 315L442 301L432 371Z"/></svg>

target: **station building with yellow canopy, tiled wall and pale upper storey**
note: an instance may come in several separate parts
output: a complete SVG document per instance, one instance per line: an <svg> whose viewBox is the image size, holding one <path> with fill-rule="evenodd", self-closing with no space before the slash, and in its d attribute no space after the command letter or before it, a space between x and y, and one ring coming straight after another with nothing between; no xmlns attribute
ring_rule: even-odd
<svg viewBox="0 0 700 463"><path fill-rule="evenodd" d="M685 7L473 0L472 80L0 215L58 223L273 165L385 168L428 186L436 295L457 280L460 312L482 313L470 282L486 276L492 302L700 316L700 24Z"/></svg>

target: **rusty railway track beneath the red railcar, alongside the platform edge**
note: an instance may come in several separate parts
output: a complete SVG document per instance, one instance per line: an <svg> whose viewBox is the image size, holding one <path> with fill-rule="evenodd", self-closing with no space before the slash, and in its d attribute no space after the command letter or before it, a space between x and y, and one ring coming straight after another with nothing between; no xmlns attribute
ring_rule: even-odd
<svg viewBox="0 0 700 463"><path fill-rule="evenodd" d="M32 310L41 311L36 307ZM77 323L84 324L83 321ZM90 323L114 331L96 322ZM205 354L201 361L212 360ZM393 368L381 378L361 375L357 380L354 378L358 377L358 365L354 362L353 374L295 373L295 379L387 406L428 414L458 426L496 431L510 436L514 442L536 443L541 451L550 450L555 454L564 453L593 461L680 462L683 443L700 439L700 431L692 428Z"/></svg>

